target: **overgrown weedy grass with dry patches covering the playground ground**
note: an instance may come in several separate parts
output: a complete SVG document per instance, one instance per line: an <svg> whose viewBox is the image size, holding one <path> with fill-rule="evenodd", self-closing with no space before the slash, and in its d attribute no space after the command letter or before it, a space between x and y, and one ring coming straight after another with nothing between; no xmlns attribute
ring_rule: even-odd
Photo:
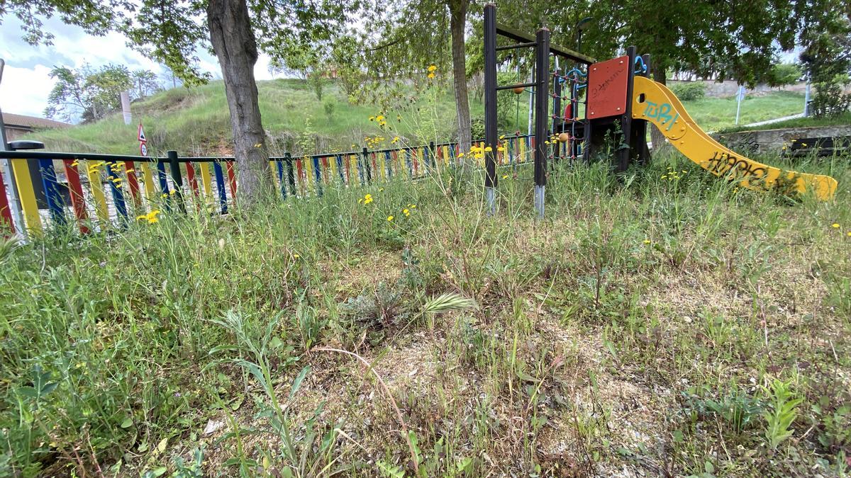
<svg viewBox="0 0 851 478"><path fill-rule="evenodd" d="M7 243L0 475L847 474L851 168L769 161L836 201L657 158Z"/></svg>

